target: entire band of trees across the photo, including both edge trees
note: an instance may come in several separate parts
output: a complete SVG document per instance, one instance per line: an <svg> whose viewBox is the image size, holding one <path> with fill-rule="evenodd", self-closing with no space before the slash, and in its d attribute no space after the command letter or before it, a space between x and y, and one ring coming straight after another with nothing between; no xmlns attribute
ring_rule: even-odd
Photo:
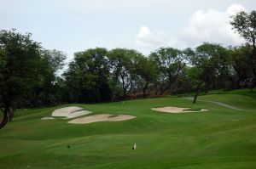
<svg viewBox="0 0 256 169"><path fill-rule="evenodd" d="M0 31L2 128L17 108L62 103L99 103L165 93L207 93L256 85L256 12L240 12L230 24L247 43L238 47L204 42L196 48L90 48L66 54L42 48L30 33Z"/></svg>

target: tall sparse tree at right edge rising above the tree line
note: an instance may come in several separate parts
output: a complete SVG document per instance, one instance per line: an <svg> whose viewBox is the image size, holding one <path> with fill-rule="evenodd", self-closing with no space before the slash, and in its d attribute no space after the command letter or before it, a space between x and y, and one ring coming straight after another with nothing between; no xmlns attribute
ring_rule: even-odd
<svg viewBox="0 0 256 169"><path fill-rule="evenodd" d="M256 85L256 11L241 11L232 16L230 25L252 47L250 54L250 68L253 71L253 85Z"/></svg>

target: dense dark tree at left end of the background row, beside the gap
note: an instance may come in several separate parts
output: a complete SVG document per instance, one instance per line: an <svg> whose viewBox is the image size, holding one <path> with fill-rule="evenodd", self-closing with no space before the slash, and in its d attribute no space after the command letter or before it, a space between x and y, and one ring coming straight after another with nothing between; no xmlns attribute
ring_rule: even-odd
<svg viewBox="0 0 256 169"><path fill-rule="evenodd" d="M97 103L110 99L109 65L106 48L76 53L64 73L71 102Z"/></svg>

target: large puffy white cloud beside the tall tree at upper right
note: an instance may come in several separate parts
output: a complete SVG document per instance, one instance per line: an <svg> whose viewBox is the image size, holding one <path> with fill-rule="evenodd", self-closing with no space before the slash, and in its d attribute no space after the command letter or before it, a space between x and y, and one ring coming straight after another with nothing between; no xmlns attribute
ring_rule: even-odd
<svg viewBox="0 0 256 169"><path fill-rule="evenodd" d="M224 45L240 45L241 37L230 25L230 16L246 10L239 4L232 4L226 11L208 9L198 10L189 19L189 25L182 31L181 38L187 45L198 45L201 42L218 42Z"/></svg>

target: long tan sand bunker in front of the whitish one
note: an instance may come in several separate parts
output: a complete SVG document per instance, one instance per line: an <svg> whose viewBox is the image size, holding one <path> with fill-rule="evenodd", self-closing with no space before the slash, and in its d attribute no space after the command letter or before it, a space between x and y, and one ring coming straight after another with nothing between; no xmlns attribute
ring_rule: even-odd
<svg viewBox="0 0 256 169"><path fill-rule="evenodd" d="M97 122L97 121L125 121L136 118L136 116L133 115L116 115L111 116L109 114L101 114L101 115L90 115L86 117L81 117L74 119L72 121L68 121L68 123L72 124L86 124L91 122Z"/></svg>

